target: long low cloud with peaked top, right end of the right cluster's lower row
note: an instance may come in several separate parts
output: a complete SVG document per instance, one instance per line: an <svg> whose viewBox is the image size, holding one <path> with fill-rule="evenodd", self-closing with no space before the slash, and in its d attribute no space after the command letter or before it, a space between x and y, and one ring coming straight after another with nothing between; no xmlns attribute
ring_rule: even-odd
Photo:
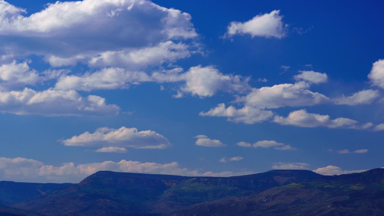
<svg viewBox="0 0 384 216"><path fill-rule="evenodd" d="M358 125L358 121L349 118L331 119L329 115L308 113L306 110L293 111L287 117L275 116L273 121L280 125L293 125L306 128L319 126L328 128L353 128Z"/></svg>

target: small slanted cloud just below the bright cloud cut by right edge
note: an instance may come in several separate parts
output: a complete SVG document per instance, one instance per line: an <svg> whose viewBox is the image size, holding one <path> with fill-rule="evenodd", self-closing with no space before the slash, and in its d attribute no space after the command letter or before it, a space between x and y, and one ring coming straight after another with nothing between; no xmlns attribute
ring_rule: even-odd
<svg viewBox="0 0 384 216"><path fill-rule="evenodd" d="M333 103L337 105L362 105L362 104L371 104L375 99L380 96L379 90L362 90L356 93L353 93L351 96L341 96L339 98L334 98Z"/></svg>

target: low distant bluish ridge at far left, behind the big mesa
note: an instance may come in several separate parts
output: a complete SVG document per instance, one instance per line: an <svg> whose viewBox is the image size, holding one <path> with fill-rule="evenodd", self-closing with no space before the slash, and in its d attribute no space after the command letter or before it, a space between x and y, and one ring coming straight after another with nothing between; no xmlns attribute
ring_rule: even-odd
<svg viewBox="0 0 384 216"><path fill-rule="evenodd" d="M70 186L70 183L23 183L0 181L0 204L13 205L51 193L52 191Z"/></svg>

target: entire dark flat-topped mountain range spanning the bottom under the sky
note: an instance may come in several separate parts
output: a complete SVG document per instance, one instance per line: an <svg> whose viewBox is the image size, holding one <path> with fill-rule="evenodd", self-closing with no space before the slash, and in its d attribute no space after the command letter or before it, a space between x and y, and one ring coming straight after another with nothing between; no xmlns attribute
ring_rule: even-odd
<svg viewBox="0 0 384 216"><path fill-rule="evenodd" d="M78 184L14 184L30 188L23 195L0 184L1 201L8 202L2 216L384 216L384 169L233 177L100 171ZM28 192L36 189L40 195Z"/></svg>

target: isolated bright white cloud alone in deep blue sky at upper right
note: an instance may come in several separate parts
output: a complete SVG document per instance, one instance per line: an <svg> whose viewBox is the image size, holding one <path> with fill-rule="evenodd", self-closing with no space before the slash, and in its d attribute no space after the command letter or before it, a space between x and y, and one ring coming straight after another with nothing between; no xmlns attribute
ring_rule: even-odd
<svg viewBox="0 0 384 216"><path fill-rule="evenodd" d="M257 15L247 22L231 22L227 27L225 37L233 35L249 34L251 37L275 37L285 36L285 25L283 16L279 15L280 10L273 10L271 13Z"/></svg>

